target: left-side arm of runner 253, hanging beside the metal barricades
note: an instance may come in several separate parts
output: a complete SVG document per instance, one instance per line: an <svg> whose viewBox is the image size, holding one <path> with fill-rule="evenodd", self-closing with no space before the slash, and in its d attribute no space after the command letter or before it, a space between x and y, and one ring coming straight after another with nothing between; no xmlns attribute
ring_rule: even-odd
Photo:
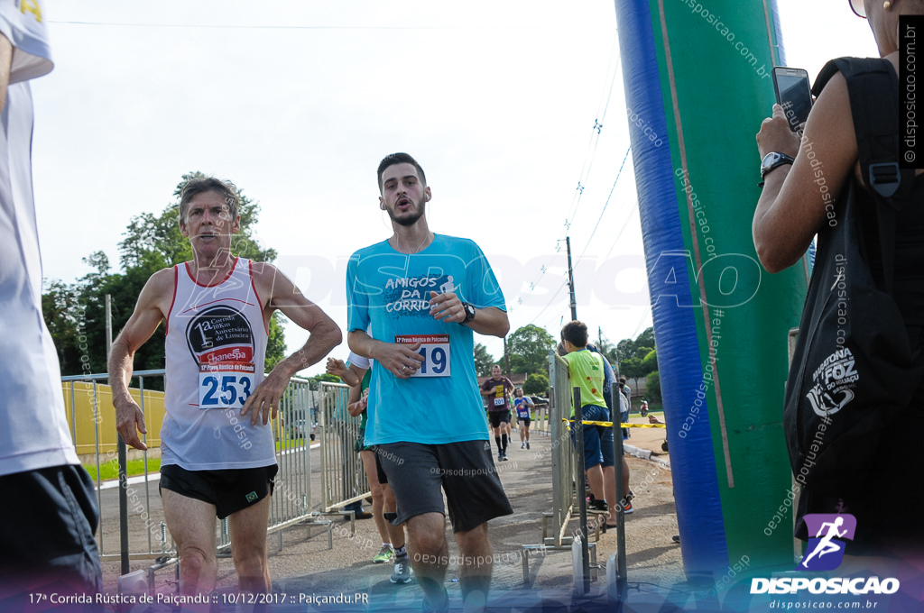
<svg viewBox="0 0 924 613"><path fill-rule="evenodd" d="M173 295L173 283L174 273L170 269L151 276L141 290L135 312L119 332L109 353L109 385L112 386L113 406L116 407L116 429L126 444L140 450L148 448L141 442L138 432L147 434L148 430L144 427L144 414L128 392L128 383L135 352L151 338L166 317L164 296Z"/></svg>

